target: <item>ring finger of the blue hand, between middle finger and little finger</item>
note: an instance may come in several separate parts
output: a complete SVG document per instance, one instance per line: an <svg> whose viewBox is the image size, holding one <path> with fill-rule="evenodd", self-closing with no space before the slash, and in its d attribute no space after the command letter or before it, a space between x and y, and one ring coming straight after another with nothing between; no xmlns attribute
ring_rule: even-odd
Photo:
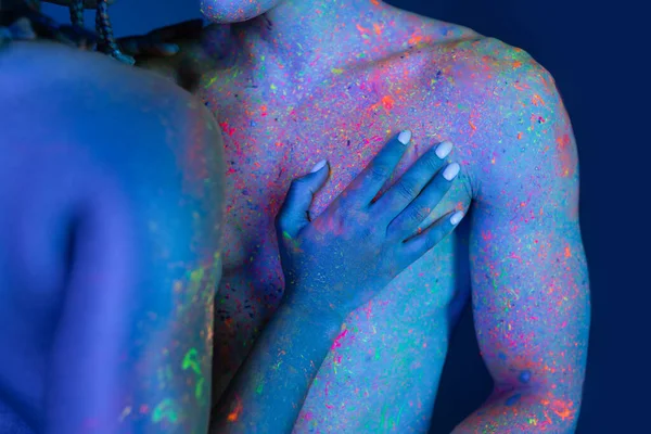
<svg viewBox="0 0 651 434"><path fill-rule="evenodd" d="M396 218L386 230L387 237L405 240L417 232L418 226L432 213L459 175L457 163L447 165L425 186L420 194Z"/></svg>

